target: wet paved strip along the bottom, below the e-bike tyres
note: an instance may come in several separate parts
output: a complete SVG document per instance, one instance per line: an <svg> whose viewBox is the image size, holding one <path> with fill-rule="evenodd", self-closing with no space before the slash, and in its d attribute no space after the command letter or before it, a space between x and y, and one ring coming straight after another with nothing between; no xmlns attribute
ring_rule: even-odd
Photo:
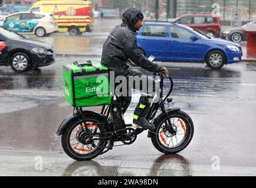
<svg viewBox="0 0 256 188"><path fill-rule="evenodd" d="M182 160L134 162L101 156L77 162L63 152L25 153L27 156L0 155L0 176L256 176L255 167L191 164ZM50 157L50 153L56 156Z"/></svg>

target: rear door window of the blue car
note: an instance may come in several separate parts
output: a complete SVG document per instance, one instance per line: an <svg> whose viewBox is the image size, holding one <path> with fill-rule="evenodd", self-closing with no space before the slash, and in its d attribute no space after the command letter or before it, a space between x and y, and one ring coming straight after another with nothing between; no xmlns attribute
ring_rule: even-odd
<svg viewBox="0 0 256 188"><path fill-rule="evenodd" d="M164 25L146 25L143 28L142 35L166 37L166 29Z"/></svg>

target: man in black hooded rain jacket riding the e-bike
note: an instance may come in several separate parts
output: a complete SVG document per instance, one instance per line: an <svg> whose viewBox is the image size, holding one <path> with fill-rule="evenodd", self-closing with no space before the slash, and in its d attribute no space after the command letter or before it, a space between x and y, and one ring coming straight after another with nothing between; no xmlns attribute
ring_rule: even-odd
<svg viewBox="0 0 256 188"><path fill-rule="evenodd" d="M101 63L114 71L115 77L120 75L125 76L128 83L130 83L130 76L145 78L147 80L146 88L150 87L149 83L153 83L152 89L153 92L155 92L155 80L150 80L150 78L143 73L136 72L130 68L130 61L132 61L137 66L150 72L168 74L168 69L149 61L146 56L143 55L142 50L137 46L136 31L139 31L140 27L143 26L143 18L142 12L136 8L127 9L123 13L122 24L117 25L113 31L111 31L106 42L104 42ZM134 88L134 83L132 83L132 85ZM142 88L142 82L140 82L140 90L142 90ZM127 93L130 93L129 90L127 90ZM142 93L139 103L134 110L133 127L142 127L155 132L155 126L145 119L150 108L149 99L153 98L153 95L154 93L149 92ZM121 107L124 113L132 102L132 96L119 96L119 99L122 101Z"/></svg>

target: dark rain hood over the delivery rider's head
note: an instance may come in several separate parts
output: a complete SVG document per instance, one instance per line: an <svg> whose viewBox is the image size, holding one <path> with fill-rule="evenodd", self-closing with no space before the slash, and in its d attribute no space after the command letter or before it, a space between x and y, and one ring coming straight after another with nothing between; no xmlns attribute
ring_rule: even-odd
<svg viewBox="0 0 256 188"><path fill-rule="evenodd" d="M136 32L134 25L139 19L143 19L142 12L137 8L130 8L123 13L123 24L126 24L132 31Z"/></svg>

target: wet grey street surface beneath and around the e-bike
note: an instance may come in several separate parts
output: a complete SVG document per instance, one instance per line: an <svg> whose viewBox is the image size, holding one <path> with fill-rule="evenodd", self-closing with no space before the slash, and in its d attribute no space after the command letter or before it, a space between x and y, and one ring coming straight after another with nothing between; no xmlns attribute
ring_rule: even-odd
<svg viewBox="0 0 256 188"><path fill-rule="evenodd" d="M53 65L25 73L0 67L1 176L255 176L256 63L212 70L201 63L160 63L174 81L173 106L193 120L192 142L178 155L163 155L147 132L133 145L114 147L89 162L75 162L55 136L73 113L65 102L63 65L100 56L57 56ZM149 72L134 68L149 75ZM166 80L165 90L170 83ZM124 115L132 115L140 93ZM85 108L86 109L86 108ZM99 107L87 108L100 111Z"/></svg>

